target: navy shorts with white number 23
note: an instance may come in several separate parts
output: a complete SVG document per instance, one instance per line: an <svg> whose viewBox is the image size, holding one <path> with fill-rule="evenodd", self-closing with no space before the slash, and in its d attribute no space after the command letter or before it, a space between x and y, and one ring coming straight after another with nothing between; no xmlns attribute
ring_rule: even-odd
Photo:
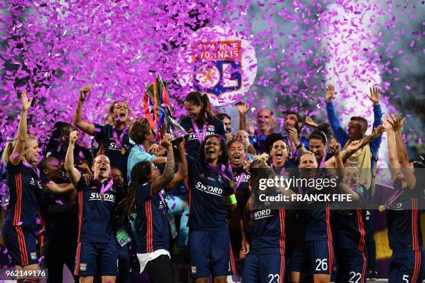
<svg viewBox="0 0 425 283"><path fill-rule="evenodd" d="M244 263L243 282L282 283L285 280L285 256L249 254Z"/></svg>

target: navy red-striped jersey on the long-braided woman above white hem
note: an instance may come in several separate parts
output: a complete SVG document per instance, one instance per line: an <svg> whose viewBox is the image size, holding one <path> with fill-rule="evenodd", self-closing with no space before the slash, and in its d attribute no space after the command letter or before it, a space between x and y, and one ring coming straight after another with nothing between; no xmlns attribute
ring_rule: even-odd
<svg viewBox="0 0 425 283"><path fill-rule="evenodd" d="M152 182L138 187L136 206L140 234L138 237L138 253L169 250L169 222L167 203L161 200L160 194L152 194Z"/></svg>

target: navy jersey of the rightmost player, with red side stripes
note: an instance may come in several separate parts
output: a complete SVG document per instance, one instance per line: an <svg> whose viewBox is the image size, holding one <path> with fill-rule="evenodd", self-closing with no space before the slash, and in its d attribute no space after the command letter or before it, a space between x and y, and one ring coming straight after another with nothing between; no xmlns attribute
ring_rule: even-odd
<svg viewBox="0 0 425 283"><path fill-rule="evenodd" d="M424 200L424 191L421 187L401 188L400 184L394 184L394 188L403 192L387 207L390 249L400 252L422 250L421 211L418 203Z"/></svg>

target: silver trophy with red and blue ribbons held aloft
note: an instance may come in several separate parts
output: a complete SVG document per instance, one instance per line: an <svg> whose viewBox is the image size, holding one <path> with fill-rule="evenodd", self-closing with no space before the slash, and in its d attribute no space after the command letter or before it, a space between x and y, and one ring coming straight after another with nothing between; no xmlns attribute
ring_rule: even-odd
<svg viewBox="0 0 425 283"><path fill-rule="evenodd" d="M149 102L153 105L153 117L149 111ZM167 98L167 82L159 75L156 75L153 83L148 85L144 91L143 107L151 128L158 130L158 134L161 136L164 133L171 135L172 144L179 144L188 135L188 132L172 117L171 106ZM154 121L156 121L156 125ZM157 139L159 139L158 134Z"/></svg>

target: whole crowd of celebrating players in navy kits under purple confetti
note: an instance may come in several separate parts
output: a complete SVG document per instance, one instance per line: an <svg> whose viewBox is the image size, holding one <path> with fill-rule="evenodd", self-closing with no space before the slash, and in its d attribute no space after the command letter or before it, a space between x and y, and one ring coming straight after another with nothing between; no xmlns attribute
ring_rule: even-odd
<svg viewBox="0 0 425 283"><path fill-rule="evenodd" d="M394 194L385 203L393 250L390 282L424 279L420 205L424 191L408 161L401 128L404 119L383 117L380 90L372 87L373 132L364 117L351 117L348 130L333 107L334 88L326 87L328 122L301 135L303 120L285 112L285 135L274 131L276 116L258 111L256 126L246 121L249 106L238 103L240 130L231 117L215 114L206 94L190 92L188 132L172 144L157 142L146 118L130 117L125 101L110 106L104 125L84 121L90 87L81 89L72 123L57 122L43 149L28 135L31 99L22 93L17 137L6 144L9 200L2 236L17 270L49 271L49 282L63 282L63 265L79 282L131 282L129 242L140 272L152 282L175 282L171 257L188 252L195 282L226 282L235 257L244 259L242 282L365 282L376 272L373 233L361 206L372 194L374 171L386 131ZM92 148L78 137L91 135ZM351 209L309 203L310 209L257 207L260 178L337 176L338 190L350 195ZM270 187L263 194L316 194L315 187ZM40 224L38 223L40 218ZM176 221L177 220L177 221ZM372 242L372 243L371 243ZM371 245L368 245L371 243ZM369 251L370 250L370 251ZM369 264L368 264L369 261ZM372 266L372 268L371 268ZM375 275L376 276L376 275ZM371 276L374 277L374 276ZM18 282L38 282L19 277Z"/></svg>

